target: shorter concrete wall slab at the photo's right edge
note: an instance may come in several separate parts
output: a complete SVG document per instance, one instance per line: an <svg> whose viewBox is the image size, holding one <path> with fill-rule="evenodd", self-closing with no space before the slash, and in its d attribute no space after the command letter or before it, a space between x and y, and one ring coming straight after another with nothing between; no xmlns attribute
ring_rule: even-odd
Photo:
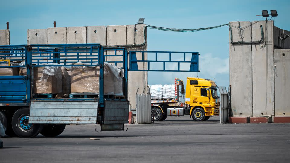
<svg viewBox="0 0 290 163"><path fill-rule="evenodd" d="M275 116L290 116L290 49L274 50Z"/></svg>

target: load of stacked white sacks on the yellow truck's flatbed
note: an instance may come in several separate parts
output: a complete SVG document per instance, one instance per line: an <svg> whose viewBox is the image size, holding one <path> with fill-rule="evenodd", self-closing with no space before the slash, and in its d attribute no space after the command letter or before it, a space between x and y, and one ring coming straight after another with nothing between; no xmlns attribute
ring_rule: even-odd
<svg viewBox="0 0 290 163"><path fill-rule="evenodd" d="M151 85L151 99L172 99L175 98L175 85Z"/></svg>

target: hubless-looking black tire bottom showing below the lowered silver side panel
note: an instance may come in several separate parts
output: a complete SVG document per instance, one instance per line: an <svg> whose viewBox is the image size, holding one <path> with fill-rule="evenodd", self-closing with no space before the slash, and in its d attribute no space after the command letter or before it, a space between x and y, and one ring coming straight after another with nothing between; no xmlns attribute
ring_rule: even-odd
<svg viewBox="0 0 290 163"><path fill-rule="evenodd" d="M55 137L60 135L63 130L66 128L66 125L44 125L40 134L46 137Z"/></svg>

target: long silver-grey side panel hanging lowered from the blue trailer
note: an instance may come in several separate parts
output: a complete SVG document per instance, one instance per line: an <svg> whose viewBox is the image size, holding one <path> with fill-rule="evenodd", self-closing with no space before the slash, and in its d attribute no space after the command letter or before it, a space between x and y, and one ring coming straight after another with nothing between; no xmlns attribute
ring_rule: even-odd
<svg viewBox="0 0 290 163"><path fill-rule="evenodd" d="M31 101L29 123L95 124L97 101Z"/></svg>

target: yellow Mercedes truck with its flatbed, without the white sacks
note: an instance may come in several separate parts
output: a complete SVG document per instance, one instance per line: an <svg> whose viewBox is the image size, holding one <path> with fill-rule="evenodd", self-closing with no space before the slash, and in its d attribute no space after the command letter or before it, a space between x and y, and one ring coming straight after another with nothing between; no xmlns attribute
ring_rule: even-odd
<svg viewBox="0 0 290 163"><path fill-rule="evenodd" d="M185 103L179 101L179 86L183 81L175 78L175 98L151 99L151 117L163 121L167 116L189 115L194 121L205 121L219 115L218 86L210 79L187 78ZM176 105L180 104L180 105Z"/></svg>

